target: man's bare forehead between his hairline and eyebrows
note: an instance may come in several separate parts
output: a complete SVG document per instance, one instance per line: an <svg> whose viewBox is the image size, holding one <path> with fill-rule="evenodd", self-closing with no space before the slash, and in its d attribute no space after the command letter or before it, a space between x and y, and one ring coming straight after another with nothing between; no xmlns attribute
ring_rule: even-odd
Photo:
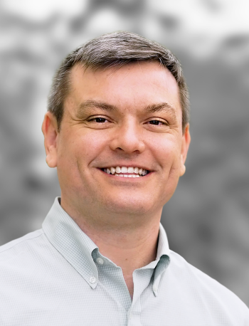
<svg viewBox="0 0 249 326"><path fill-rule="evenodd" d="M155 61L97 70L77 64L70 72L69 99L77 107L85 100L97 100L120 110L168 102L181 112L179 87L174 76Z"/></svg>

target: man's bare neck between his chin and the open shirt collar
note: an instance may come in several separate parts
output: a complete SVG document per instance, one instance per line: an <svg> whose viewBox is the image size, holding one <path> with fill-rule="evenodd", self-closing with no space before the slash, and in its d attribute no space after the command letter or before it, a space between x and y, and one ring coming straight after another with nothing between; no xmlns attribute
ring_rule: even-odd
<svg viewBox="0 0 249 326"><path fill-rule="evenodd" d="M60 203L63 209L96 244L100 253L122 268L124 278L132 277L135 269L156 259L162 209L157 214L132 216L131 219L130 214L111 216L110 212L106 215L103 211L101 214L92 214L92 211L80 214L64 203Z"/></svg>

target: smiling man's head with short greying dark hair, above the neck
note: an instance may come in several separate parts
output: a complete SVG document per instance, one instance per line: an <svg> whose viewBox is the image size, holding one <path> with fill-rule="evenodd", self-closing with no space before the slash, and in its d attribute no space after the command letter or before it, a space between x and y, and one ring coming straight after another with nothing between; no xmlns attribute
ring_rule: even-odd
<svg viewBox="0 0 249 326"><path fill-rule="evenodd" d="M179 61L159 44L122 32L73 51L55 75L43 121L65 211L101 216L105 225L161 216L185 172L188 118ZM110 174L117 167L149 173Z"/></svg>

